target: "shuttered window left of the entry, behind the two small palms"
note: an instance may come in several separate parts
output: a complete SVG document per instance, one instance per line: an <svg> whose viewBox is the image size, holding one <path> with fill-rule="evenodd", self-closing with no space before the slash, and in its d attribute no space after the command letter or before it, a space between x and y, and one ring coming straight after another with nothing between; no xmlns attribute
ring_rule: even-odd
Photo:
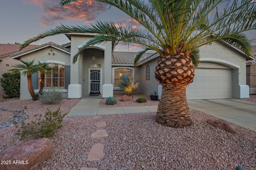
<svg viewBox="0 0 256 170"><path fill-rule="evenodd" d="M51 63L53 72L45 74L44 88L65 88L65 66ZM38 72L38 87L40 87L42 72Z"/></svg>

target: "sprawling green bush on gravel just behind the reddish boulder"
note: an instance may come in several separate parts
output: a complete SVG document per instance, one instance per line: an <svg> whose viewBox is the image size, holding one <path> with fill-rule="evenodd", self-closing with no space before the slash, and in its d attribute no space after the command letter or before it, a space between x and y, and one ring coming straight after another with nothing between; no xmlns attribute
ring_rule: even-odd
<svg viewBox="0 0 256 170"><path fill-rule="evenodd" d="M62 119L68 115L69 112L61 115L60 107L56 111L47 109L44 117L42 115L34 115L36 121L30 123L21 122L21 130L18 129L16 135L20 135L20 139L38 139L44 137L52 137L56 129L62 127ZM27 118L29 118L27 116ZM16 125L16 127L18 127Z"/></svg>

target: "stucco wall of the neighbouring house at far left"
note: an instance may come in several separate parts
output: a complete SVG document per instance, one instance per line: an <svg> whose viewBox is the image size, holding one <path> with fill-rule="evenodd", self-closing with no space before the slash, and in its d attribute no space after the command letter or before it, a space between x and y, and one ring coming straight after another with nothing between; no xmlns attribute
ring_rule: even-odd
<svg viewBox="0 0 256 170"><path fill-rule="evenodd" d="M2 58L0 58L0 60L2 60L2 62L0 62L0 78L2 77L2 74L4 74L5 72L8 72L8 70L14 68L14 67L12 67L13 65L20 63L19 61L11 59L8 56L2 57ZM3 98L2 95L4 95L4 92L3 92L2 86L0 86L0 99Z"/></svg>

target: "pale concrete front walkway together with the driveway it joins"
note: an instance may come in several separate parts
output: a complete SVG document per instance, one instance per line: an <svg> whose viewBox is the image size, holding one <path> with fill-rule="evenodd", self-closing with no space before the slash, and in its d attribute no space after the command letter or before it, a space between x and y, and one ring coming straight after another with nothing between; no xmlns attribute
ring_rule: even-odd
<svg viewBox="0 0 256 170"><path fill-rule="evenodd" d="M84 98L68 116L111 115L156 112L158 106L99 107L99 98ZM256 131L256 103L236 99L188 100L190 110L199 110L220 119Z"/></svg>

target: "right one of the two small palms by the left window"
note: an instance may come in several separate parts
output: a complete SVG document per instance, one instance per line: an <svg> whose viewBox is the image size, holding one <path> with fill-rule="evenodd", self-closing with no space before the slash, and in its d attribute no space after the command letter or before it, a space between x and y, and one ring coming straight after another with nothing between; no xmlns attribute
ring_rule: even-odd
<svg viewBox="0 0 256 170"><path fill-rule="evenodd" d="M45 74L51 74L52 73L52 67L50 66L50 63L46 62L40 62L38 61L38 70L40 71L41 81L40 81L40 90L38 94L42 95L43 89L44 89L44 78Z"/></svg>

